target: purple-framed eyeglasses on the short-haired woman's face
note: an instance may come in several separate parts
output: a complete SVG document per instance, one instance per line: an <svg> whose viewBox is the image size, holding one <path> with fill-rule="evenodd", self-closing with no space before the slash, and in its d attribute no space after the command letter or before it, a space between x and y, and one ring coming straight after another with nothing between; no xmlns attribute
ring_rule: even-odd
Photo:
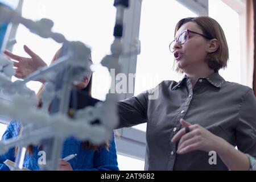
<svg viewBox="0 0 256 182"><path fill-rule="evenodd" d="M197 34L197 35L201 35L203 36L205 39L212 39L212 38L209 38L208 36L205 36L203 34L199 34L197 32L194 32L194 31L191 31L191 30L185 30L183 32L181 32L181 34L179 35L179 37L177 39L174 39L174 41L171 42L171 44L169 45L169 49L171 51L171 53L174 53L175 52L175 49L174 49L174 46L176 44L176 42L179 42L180 44L184 44L185 42L187 42L188 38L189 38L189 34Z"/></svg>

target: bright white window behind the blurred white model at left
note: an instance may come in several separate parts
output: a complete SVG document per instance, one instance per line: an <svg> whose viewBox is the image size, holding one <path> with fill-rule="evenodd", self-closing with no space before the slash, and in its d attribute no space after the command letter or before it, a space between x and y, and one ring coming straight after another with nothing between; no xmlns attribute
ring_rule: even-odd
<svg viewBox="0 0 256 182"><path fill-rule="evenodd" d="M53 31L64 34L68 40L79 40L92 48L94 98L105 100L110 87L110 76L106 68L99 65L102 58L110 53L113 42L113 30L116 9L113 0L72 0L46 1L24 0L23 16L32 20L49 18L55 22ZM23 45L30 47L49 65L53 55L61 47L51 39L42 39L32 34L24 26L19 26L16 35L17 44L14 53L27 57ZM15 80L15 78L13 78ZM39 82L27 84L32 90L38 91Z"/></svg>

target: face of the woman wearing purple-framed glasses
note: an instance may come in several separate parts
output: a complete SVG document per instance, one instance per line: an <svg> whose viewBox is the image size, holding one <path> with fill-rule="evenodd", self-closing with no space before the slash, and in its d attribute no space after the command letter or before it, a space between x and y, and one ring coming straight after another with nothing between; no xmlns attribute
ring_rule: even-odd
<svg viewBox="0 0 256 182"><path fill-rule="evenodd" d="M183 24L176 32L175 38L185 30L195 31L200 34L204 34L203 31L194 22L188 22ZM187 42L184 44L176 43L174 46L174 57L177 63L177 67L183 72L191 72L197 70L200 64L207 64L207 45L208 40L201 35L189 34ZM177 55L180 55L177 57Z"/></svg>

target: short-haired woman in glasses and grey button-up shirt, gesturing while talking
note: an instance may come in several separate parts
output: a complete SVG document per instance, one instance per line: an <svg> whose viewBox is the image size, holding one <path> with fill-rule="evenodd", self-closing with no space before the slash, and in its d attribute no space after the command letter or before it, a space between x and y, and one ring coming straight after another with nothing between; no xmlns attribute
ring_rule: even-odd
<svg viewBox="0 0 256 182"><path fill-rule="evenodd" d="M118 102L119 128L147 123L145 169L256 169L256 100L218 74L229 59L220 24L181 19L169 47L184 77Z"/></svg>

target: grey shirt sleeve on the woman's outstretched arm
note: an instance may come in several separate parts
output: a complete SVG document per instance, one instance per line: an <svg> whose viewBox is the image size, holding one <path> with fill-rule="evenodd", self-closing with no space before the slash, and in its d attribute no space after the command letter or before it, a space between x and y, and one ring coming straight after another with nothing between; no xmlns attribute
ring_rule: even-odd
<svg viewBox="0 0 256 182"><path fill-rule="evenodd" d="M147 122L147 93L118 102L119 125L131 127Z"/></svg>

